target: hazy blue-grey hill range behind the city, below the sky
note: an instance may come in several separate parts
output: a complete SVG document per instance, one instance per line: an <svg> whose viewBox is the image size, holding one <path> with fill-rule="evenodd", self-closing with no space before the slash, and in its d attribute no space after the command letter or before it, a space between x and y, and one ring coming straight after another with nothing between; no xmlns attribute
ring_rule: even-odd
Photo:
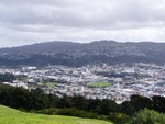
<svg viewBox="0 0 165 124"><path fill-rule="evenodd" d="M82 66L92 63L165 63L165 43L91 43L47 42L26 46L1 48L1 66Z"/></svg>

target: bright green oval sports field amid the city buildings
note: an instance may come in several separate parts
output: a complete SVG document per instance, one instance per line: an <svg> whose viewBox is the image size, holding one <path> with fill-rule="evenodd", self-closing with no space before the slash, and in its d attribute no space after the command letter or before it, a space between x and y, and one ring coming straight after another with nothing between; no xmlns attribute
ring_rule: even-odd
<svg viewBox="0 0 165 124"><path fill-rule="evenodd" d="M95 82L95 83L89 83L88 87L92 87L92 88L106 88L111 86L111 83L109 82Z"/></svg>

